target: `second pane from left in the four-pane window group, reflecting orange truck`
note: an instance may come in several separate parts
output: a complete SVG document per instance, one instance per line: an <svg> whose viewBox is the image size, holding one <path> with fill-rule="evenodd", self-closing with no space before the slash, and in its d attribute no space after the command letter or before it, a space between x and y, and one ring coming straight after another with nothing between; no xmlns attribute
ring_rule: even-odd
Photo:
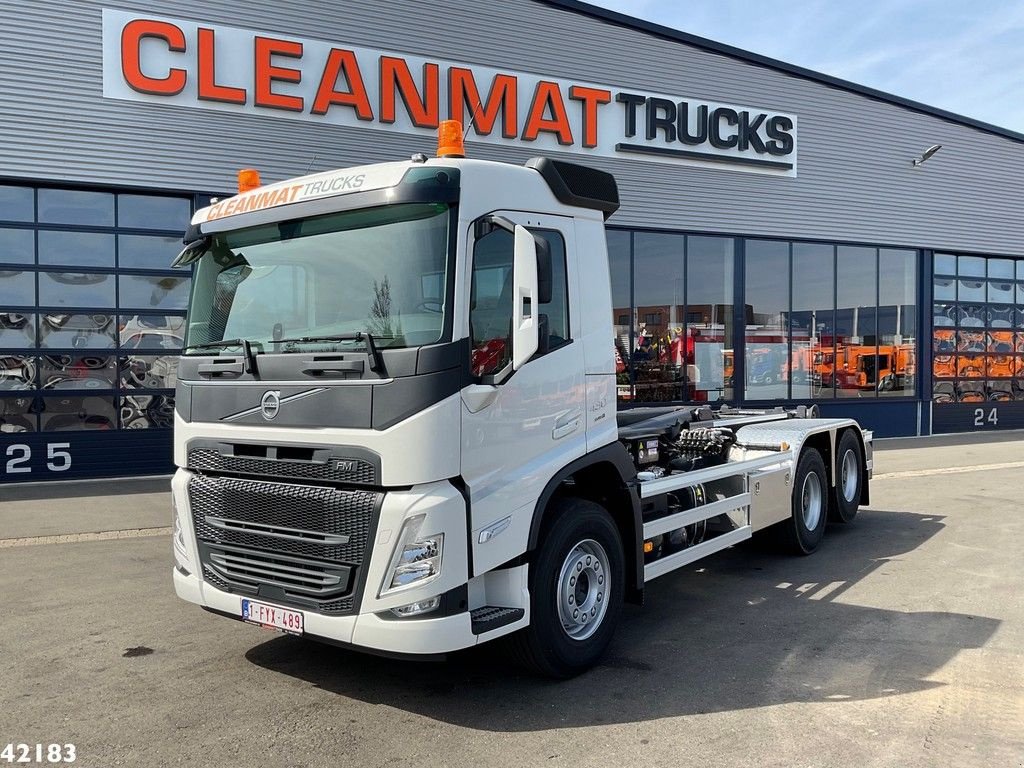
<svg viewBox="0 0 1024 768"><path fill-rule="evenodd" d="M834 395L836 373L836 249L819 243L793 244L792 396Z"/></svg>

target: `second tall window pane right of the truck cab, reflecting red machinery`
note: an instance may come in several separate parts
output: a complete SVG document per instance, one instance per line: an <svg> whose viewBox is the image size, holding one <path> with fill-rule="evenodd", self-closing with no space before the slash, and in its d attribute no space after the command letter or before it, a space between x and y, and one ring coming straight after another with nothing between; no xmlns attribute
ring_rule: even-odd
<svg viewBox="0 0 1024 768"><path fill-rule="evenodd" d="M682 359L674 354L683 323L682 234L633 236L633 291L637 327L633 329L635 399L642 402L691 398ZM679 329L679 333L676 330Z"/></svg>

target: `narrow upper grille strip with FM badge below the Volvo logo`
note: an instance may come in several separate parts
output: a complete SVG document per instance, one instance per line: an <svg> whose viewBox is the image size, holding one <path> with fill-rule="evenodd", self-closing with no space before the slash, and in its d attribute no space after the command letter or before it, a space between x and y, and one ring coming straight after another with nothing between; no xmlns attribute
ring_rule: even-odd
<svg viewBox="0 0 1024 768"><path fill-rule="evenodd" d="M188 468L200 472L283 477L296 480L349 482L376 485L377 470L361 459L332 457L326 461L263 459L252 456L224 456L213 449L193 449L188 452Z"/></svg>

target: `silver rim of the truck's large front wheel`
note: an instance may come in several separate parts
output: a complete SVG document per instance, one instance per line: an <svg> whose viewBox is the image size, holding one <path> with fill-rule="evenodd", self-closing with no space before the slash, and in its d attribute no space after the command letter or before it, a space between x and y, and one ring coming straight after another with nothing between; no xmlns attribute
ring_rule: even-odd
<svg viewBox="0 0 1024 768"><path fill-rule="evenodd" d="M573 640L586 640L601 626L608 609L609 572L608 555L593 539L577 544L562 563L558 617Z"/></svg>

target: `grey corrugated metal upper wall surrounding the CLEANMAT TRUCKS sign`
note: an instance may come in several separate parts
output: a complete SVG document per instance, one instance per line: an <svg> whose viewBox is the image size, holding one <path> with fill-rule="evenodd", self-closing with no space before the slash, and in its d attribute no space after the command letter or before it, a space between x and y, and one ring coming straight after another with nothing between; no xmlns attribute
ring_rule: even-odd
<svg viewBox="0 0 1024 768"><path fill-rule="evenodd" d="M0 177L185 190L429 151L413 136L104 99L104 3L0 0ZM799 117L799 177L627 160L621 225L1024 255L1024 143L532 0L121 0L118 7ZM943 150L921 169L910 159ZM471 146L513 162L529 152Z"/></svg>

